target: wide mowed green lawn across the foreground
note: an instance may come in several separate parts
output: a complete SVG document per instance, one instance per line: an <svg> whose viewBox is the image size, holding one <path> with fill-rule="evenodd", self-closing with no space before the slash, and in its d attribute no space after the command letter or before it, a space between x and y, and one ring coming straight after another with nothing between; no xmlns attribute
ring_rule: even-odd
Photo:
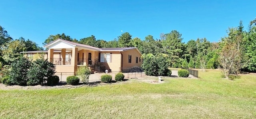
<svg viewBox="0 0 256 119"><path fill-rule="evenodd" d="M199 77L0 90L0 118L256 118L256 75L227 80L219 70L207 70Z"/></svg>

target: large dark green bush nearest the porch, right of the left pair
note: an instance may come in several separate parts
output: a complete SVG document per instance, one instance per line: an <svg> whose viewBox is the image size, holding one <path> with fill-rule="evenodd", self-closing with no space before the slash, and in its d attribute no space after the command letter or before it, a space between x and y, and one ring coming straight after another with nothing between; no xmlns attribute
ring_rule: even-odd
<svg viewBox="0 0 256 119"><path fill-rule="evenodd" d="M52 77L55 72L55 65L43 58L36 59L28 70L27 85L42 84L48 77Z"/></svg>

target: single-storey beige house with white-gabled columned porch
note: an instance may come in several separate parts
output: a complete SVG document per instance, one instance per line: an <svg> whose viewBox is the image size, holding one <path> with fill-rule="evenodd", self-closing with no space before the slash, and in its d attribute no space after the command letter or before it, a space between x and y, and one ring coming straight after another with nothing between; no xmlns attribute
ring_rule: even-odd
<svg viewBox="0 0 256 119"><path fill-rule="evenodd" d="M43 54L45 59L56 65L56 72L76 72L80 65L88 65L92 70L122 69L142 64L138 48L95 48L62 39L44 46L46 51L25 52L29 58L36 59Z"/></svg>

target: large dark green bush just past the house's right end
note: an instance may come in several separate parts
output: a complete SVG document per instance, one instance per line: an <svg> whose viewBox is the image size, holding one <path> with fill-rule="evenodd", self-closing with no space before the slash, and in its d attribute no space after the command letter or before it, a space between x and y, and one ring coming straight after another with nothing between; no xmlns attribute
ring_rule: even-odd
<svg viewBox="0 0 256 119"><path fill-rule="evenodd" d="M144 69L146 75L164 76L167 74L168 61L165 55L158 54L158 56L154 56L153 54L147 54L142 57L142 68Z"/></svg>

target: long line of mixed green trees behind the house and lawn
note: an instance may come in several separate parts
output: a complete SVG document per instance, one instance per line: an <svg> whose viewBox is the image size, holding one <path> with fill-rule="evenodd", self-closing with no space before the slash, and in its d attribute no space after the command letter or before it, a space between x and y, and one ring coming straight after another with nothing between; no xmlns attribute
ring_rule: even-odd
<svg viewBox="0 0 256 119"><path fill-rule="evenodd" d="M132 38L125 32L112 41L97 40L91 35L80 40L62 33L50 35L44 45L58 38L86 44L97 48L137 47L143 56L152 54L164 55L169 67L184 67L198 69L221 68L225 75L237 74L240 71L256 71L256 20L252 20L246 30L242 21L237 27L228 28L227 36L218 42L210 42L206 38L197 38L183 42L182 34L177 30L160 34L156 39L151 35L144 39ZM42 50L35 42L19 38L13 40L4 28L0 26L0 55L10 63L19 52Z"/></svg>

